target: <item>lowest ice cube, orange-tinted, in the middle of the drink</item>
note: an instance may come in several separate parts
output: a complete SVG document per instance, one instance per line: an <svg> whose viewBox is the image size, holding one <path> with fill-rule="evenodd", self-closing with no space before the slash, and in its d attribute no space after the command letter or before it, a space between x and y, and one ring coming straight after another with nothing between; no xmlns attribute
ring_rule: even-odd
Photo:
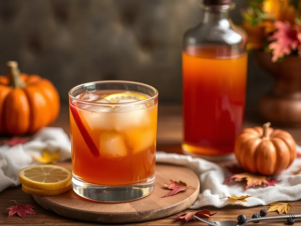
<svg viewBox="0 0 301 226"><path fill-rule="evenodd" d="M126 156L127 147L123 136L119 133L102 133L100 136L99 150L101 155L112 157Z"/></svg>

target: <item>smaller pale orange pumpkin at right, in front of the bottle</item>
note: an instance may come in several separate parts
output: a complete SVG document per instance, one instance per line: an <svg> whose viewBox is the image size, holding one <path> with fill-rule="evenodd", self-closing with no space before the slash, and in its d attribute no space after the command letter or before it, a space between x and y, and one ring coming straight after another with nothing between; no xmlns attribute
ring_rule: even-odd
<svg viewBox="0 0 301 226"><path fill-rule="evenodd" d="M278 174L296 158L296 142L287 131L263 127L245 129L235 142L235 156L239 164L252 173Z"/></svg>

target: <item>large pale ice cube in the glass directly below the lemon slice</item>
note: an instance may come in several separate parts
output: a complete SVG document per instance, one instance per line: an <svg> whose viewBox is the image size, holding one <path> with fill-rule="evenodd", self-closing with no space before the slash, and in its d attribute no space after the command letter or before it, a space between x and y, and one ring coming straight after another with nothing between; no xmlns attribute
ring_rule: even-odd
<svg viewBox="0 0 301 226"><path fill-rule="evenodd" d="M116 106L114 108L115 129L118 131L131 127L147 126L151 118L144 104Z"/></svg>

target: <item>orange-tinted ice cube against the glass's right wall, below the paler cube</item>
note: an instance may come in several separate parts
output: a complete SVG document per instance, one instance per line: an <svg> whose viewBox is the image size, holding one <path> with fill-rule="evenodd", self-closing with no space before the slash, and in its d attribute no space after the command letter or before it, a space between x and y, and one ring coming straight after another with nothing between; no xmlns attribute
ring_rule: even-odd
<svg viewBox="0 0 301 226"><path fill-rule="evenodd" d="M156 131L152 129L131 129L126 131L133 152L141 152L155 145Z"/></svg>

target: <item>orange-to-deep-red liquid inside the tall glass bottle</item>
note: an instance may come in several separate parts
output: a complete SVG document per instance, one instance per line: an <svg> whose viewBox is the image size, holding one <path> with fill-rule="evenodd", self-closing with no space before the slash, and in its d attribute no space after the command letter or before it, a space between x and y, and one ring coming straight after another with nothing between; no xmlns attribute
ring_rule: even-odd
<svg viewBox="0 0 301 226"><path fill-rule="evenodd" d="M224 47L182 53L183 150L202 156L234 151L244 121L247 54L233 55Z"/></svg>

